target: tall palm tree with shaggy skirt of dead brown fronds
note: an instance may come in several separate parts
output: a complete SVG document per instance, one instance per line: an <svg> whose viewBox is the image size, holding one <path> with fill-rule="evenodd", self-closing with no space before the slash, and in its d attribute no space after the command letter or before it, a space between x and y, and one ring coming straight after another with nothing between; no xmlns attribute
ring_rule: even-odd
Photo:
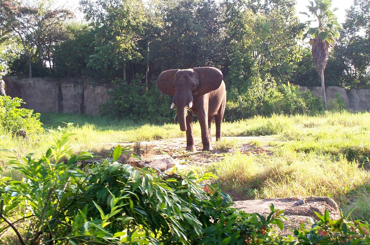
<svg viewBox="0 0 370 245"><path fill-rule="evenodd" d="M314 21L318 22L318 27L310 27L307 33L303 36L306 38L310 35L312 38L309 44L312 47L312 58L315 63L316 71L319 73L321 78L322 97L325 109L326 106L326 94L325 94L325 82L324 82L324 69L327 64L327 58L329 56L329 47L334 44L334 39L339 37L339 29L342 28L337 21L337 17L334 15L334 11L338 8L330 10L332 6L332 0L314 0L309 1L311 5L307 6L310 14L314 17ZM314 5L316 4L316 5ZM309 14L301 12L301 14ZM307 21L310 26L312 20Z"/></svg>

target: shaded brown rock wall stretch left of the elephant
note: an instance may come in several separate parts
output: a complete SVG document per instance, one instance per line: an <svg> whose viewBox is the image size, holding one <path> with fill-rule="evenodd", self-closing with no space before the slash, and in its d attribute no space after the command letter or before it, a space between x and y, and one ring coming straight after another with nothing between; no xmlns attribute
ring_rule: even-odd
<svg viewBox="0 0 370 245"><path fill-rule="evenodd" d="M98 106L109 99L108 86L84 85L81 81L51 78L19 79L4 76L5 93L22 98L24 108L36 112L81 113L97 115Z"/></svg>

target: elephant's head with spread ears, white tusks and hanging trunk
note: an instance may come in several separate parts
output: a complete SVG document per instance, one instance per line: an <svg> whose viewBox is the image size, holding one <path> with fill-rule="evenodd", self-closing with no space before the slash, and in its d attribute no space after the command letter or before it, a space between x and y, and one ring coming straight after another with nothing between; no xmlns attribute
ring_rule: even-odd
<svg viewBox="0 0 370 245"><path fill-rule="evenodd" d="M158 88L174 96L171 109L176 105L181 131L186 130L186 107L193 106L193 96L201 96L218 89L223 79L222 72L214 67L174 69L158 76Z"/></svg>

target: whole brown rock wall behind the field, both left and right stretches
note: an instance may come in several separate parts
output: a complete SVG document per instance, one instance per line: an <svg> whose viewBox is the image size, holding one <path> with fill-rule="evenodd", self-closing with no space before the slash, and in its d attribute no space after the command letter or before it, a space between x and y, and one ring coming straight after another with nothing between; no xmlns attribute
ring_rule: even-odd
<svg viewBox="0 0 370 245"><path fill-rule="evenodd" d="M87 85L83 81L61 81L51 78L26 78L4 76L0 82L0 94L22 98L24 108L36 112L81 113L97 115L100 104L109 99L112 88L108 86ZM0 80L1 81L1 80ZM4 89L5 85L5 89ZM321 87L300 87L301 91L311 91L321 96ZM326 99L336 99L336 93L352 110L370 110L370 89L350 89L328 86Z"/></svg>

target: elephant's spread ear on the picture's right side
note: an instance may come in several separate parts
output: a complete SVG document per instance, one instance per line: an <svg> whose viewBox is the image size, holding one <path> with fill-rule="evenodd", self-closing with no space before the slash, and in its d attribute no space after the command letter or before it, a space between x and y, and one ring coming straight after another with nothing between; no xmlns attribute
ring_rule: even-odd
<svg viewBox="0 0 370 245"><path fill-rule="evenodd" d="M197 67L194 71L199 74L198 94L204 95L212 90L218 89L221 85L222 72L214 67Z"/></svg>

